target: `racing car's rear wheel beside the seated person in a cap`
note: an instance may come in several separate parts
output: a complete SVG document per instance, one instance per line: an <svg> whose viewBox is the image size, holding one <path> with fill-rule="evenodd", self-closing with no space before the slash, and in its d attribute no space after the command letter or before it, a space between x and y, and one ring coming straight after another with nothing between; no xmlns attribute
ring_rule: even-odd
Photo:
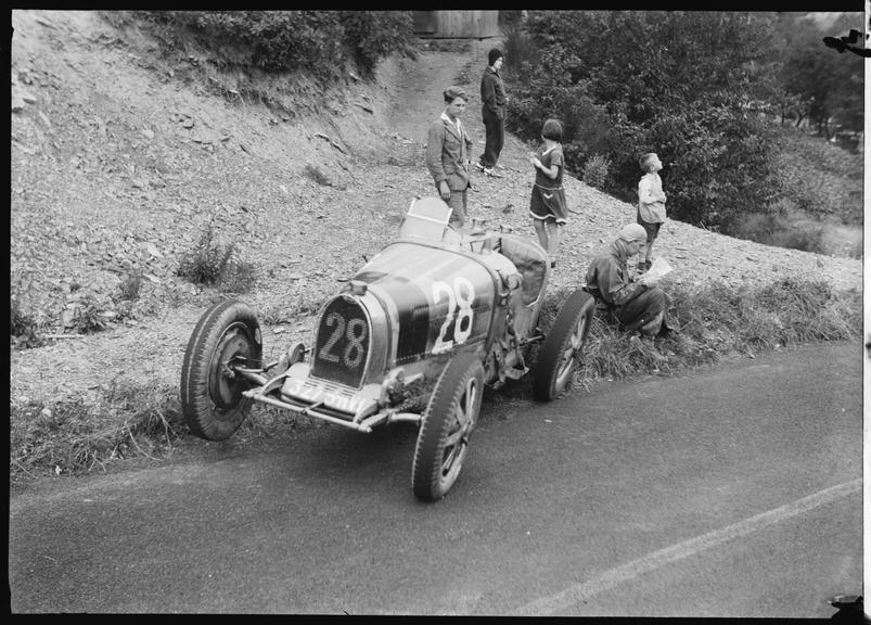
<svg viewBox="0 0 871 625"><path fill-rule="evenodd" d="M550 401L572 386L584 343L590 331L595 301L578 289L565 301L538 353L533 392Z"/></svg>

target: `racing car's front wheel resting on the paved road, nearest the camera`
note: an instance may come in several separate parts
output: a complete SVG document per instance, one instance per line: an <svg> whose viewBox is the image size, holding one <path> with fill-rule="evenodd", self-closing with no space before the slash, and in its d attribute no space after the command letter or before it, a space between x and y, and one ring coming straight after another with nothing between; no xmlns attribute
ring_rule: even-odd
<svg viewBox="0 0 871 625"><path fill-rule="evenodd" d="M441 499L462 469L484 395L484 367L474 355L451 360L436 382L421 422L411 482L423 501Z"/></svg>

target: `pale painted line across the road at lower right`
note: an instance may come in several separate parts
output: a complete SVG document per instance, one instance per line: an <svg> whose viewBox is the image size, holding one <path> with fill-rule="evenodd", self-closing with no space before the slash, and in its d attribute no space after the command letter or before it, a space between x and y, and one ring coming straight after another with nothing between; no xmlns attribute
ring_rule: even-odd
<svg viewBox="0 0 871 625"><path fill-rule="evenodd" d="M726 527L715 530L714 532L708 532L707 534L703 534L696 538L678 543L677 545L666 547L659 551L654 551L653 553L643 558L639 558L638 560L627 562L626 564L617 566L616 569L605 571L592 579L581 584L575 584L560 592L556 592L555 595L542 597L536 601L527 603L526 605L520 608L517 614L536 616L554 614L561 610L565 610L571 605L585 601L590 597L598 595L599 592L603 592L604 590L613 588L614 586L617 586L624 582L635 579L639 575L643 575L650 571L655 571L656 569L661 569L662 566L665 566L671 562L689 558L690 556L694 556L701 551L716 547L717 545L726 543L727 540L731 540L740 536L746 536L753 532L758 532L759 530L764 530L769 525L773 525L774 523L785 521L792 516L803 514L812 510L814 508L835 501L836 499L860 493L861 489L861 479L825 488L824 490L820 490L819 493L804 497L798 501L786 503L785 506L774 508L773 510L763 512L761 514L756 514L755 516L739 521L732 525L727 525Z"/></svg>

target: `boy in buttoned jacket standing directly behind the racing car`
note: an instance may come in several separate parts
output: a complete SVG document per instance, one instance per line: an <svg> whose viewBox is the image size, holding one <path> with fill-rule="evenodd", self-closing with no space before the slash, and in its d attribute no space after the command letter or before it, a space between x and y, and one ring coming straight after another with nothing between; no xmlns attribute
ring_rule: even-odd
<svg viewBox="0 0 871 625"><path fill-rule="evenodd" d="M426 140L426 168L433 176L441 200L453 208L450 222L462 227L467 215L469 150L472 140L460 122L466 94L460 87L445 89L445 110L430 126Z"/></svg>

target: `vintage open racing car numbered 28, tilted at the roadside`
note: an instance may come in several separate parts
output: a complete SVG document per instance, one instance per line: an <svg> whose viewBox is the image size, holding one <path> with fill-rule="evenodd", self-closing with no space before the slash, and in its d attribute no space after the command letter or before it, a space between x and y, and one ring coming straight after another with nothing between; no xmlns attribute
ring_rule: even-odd
<svg viewBox="0 0 871 625"><path fill-rule="evenodd" d="M571 384L594 308L590 294L574 291L545 335L545 250L505 229L454 229L450 213L439 199L412 202L398 237L322 306L312 346L290 345L274 362L262 362L248 305L209 308L181 370L191 431L227 438L254 401L359 432L411 421L419 425L414 495L441 498L465 460L485 385L526 374L539 343L533 392L556 397ZM425 410L407 410L414 394Z"/></svg>

